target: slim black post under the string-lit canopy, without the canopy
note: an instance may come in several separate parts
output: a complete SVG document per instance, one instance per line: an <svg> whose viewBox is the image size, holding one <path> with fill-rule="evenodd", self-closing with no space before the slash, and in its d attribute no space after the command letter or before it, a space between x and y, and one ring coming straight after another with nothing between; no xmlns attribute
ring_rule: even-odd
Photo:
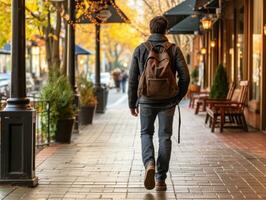
<svg viewBox="0 0 266 200"><path fill-rule="evenodd" d="M101 25L95 25L96 65L95 65L95 92L97 96L97 113L104 113L106 110L108 89L101 85Z"/></svg>

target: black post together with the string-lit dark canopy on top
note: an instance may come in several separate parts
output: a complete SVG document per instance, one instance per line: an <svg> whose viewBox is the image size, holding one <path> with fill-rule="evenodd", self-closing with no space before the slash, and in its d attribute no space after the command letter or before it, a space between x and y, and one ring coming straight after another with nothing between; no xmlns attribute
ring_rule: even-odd
<svg viewBox="0 0 266 200"><path fill-rule="evenodd" d="M101 7L101 4L105 6ZM93 20L91 20L93 19ZM106 110L108 90L101 85L101 56L100 56L100 30L104 23L125 23L129 22L127 16L117 7L114 0L104 0L99 3L98 12L93 13L90 18L84 14L76 23L88 24L95 23L95 44L96 44L96 63L95 63L95 91L97 96L97 113L104 113Z"/></svg>

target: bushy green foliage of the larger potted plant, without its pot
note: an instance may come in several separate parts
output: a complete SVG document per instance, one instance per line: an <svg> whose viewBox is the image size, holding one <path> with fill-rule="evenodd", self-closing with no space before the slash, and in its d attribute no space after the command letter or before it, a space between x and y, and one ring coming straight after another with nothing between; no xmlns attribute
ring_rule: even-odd
<svg viewBox="0 0 266 200"><path fill-rule="evenodd" d="M74 94L67 77L54 73L41 90L41 100L50 102L50 127L54 136L59 119L74 117ZM44 113L45 114L45 113ZM45 120L44 122L45 123ZM43 126L47 126L43 124Z"/></svg>

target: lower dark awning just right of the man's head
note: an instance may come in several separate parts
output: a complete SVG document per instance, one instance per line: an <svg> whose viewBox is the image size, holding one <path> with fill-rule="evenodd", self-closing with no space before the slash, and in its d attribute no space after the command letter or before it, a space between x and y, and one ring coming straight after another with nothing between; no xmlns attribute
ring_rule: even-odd
<svg viewBox="0 0 266 200"><path fill-rule="evenodd" d="M186 17L184 20L169 29L169 34L194 34L200 30L199 17Z"/></svg>

